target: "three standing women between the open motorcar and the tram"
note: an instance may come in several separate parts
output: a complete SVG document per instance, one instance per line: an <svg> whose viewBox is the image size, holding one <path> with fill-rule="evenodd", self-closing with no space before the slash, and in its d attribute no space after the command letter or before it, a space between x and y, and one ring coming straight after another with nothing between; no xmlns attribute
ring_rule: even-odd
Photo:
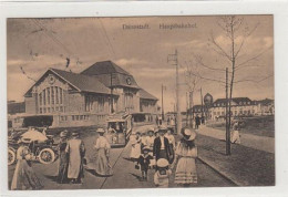
<svg viewBox="0 0 288 197"><path fill-rule="evenodd" d="M94 152L88 164L85 158L85 147L79 133L72 133L72 138L66 141L66 131L61 132L59 143L59 173L58 183L81 184L84 177L84 165L90 169L94 169L97 176L111 176L112 167L109 162L111 146L103 136L104 128L97 128L97 137L94 143Z"/></svg>

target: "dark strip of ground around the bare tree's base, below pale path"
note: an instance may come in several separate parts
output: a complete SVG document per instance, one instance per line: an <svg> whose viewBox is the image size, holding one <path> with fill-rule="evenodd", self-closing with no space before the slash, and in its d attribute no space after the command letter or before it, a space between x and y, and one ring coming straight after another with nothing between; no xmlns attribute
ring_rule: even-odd
<svg viewBox="0 0 288 197"><path fill-rule="evenodd" d="M198 158L238 186L274 186L275 154L232 144L232 155L225 155L226 143L197 135Z"/></svg>

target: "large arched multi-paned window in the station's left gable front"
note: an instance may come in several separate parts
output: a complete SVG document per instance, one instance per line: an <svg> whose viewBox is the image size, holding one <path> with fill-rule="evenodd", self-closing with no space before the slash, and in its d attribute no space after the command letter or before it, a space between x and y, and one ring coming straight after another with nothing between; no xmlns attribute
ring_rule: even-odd
<svg viewBox="0 0 288 197"><path fill-rule="evenodd" d="M64 112L64 102L63 102L63 89L59 86L50 86L44 89L39 93L39 113L54 113L54 112Z"/></svg>

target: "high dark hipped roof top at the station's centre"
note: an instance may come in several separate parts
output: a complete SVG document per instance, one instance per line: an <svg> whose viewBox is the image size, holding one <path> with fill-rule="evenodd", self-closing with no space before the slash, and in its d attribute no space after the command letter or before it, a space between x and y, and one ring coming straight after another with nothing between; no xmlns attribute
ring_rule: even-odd
<svg viewBox="0 0 288 197"><path fill-rule="evenodd" d="M99 75L99 74L110 74L110 73L121 73L131 75L128 72L116 65L112 61L103 61L103 62L96 62L86 70L82 71L81 74L86 75Z"/></svg>

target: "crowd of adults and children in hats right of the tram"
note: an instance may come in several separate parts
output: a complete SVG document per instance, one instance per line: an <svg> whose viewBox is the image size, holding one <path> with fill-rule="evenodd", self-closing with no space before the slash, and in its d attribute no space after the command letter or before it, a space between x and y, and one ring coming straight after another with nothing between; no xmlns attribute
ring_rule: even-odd
<svg viewBox="0 0 288 197"><path fill-rule="evenodd" d="M147 172L155 169L154 184L158 187L168 187L169 176L176 165L176 184L187 186L197 183L195 158L196 133L189 128L182 128L182 139L175 142L174 135L167 127L161 125L158 129L148 129L131 137L131 159L142 172L142 180L147 180ZM138 167L137 167L138 166Z"/></svg>

